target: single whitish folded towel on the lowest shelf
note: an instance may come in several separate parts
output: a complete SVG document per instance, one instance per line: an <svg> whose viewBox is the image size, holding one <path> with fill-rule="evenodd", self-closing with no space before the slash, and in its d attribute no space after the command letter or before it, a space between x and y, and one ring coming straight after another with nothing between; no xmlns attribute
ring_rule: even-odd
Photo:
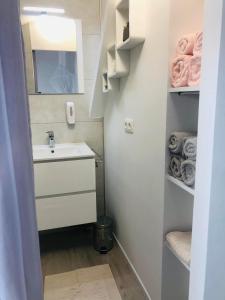
<svg viewBox="0 0 225 300"><path fill-rule="evenodd" d="M166 235L166 241L172 251L179 257L179 259L186 265L191 263L191 231L173 231Z"/></svg>

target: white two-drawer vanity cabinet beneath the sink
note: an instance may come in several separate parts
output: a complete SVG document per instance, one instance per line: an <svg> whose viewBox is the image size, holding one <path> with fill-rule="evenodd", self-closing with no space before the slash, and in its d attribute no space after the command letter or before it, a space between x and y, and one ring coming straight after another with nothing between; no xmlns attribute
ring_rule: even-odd
<svg viewBox="0 0 225 300"><path fill-rule="evenodd" d="M34 161L38 230L96 222L94 157Z"/></svg>

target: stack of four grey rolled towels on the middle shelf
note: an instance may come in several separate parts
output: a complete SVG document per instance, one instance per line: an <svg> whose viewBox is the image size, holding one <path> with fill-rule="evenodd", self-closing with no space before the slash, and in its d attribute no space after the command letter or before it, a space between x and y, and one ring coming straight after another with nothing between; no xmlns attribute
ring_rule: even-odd
<svg viewBox="0 0 225 300"><path fill-rule="evenodd" d="M173 132L169 138L169 174L187 186L195 184L197 136L192 132Z"/></svg>

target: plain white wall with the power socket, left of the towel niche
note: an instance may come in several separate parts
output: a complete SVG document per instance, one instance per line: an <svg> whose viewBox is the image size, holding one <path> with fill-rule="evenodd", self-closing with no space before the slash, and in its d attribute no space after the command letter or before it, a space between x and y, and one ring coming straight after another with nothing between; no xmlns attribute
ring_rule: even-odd
<svg viewBox="0 0 225 300"><path fill-rule="evenodd" d="M152 300L161 299L168 4L147 0L146 41L105 99L106 197L115 232ZM134 119L133 135L124 119Z"/></svg>

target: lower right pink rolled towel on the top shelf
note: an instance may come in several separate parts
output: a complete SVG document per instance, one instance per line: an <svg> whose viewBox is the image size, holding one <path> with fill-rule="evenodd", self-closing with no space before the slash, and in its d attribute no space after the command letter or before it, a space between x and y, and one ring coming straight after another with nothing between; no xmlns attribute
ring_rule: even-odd
<svg viewBox="0 0 225 300"><path fill-rule="evenodd" d="M188 86L199 85L201 77L201 56L192 56L189 61Z"/></svg>

